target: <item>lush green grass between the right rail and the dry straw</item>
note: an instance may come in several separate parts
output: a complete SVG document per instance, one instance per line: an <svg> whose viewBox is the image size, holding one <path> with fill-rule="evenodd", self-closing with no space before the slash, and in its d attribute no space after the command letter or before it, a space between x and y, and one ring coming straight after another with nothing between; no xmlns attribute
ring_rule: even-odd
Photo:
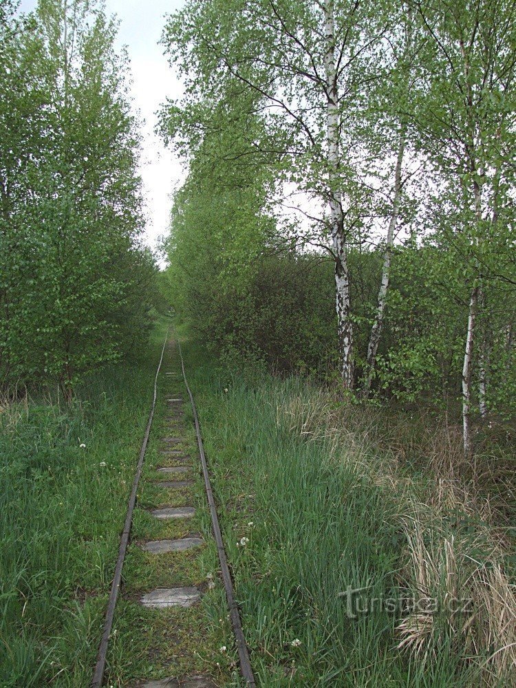
<svg viewBox="0 0 516 688"><path fill-rule="evenodd" d="M403 652L399 614L376 605L350 618L339 596L348 586L367 587L368 600L400 596L405 482L374 480L360 450L336 451L331 433L314 440L297 431L289 409L310 402L310 385L231 375L193 347L186 367L258 685L483 685L480 664L492 648L470 662L460 638L436 632L426 657ZM507 680L491 676L489 685Z"/></svg>

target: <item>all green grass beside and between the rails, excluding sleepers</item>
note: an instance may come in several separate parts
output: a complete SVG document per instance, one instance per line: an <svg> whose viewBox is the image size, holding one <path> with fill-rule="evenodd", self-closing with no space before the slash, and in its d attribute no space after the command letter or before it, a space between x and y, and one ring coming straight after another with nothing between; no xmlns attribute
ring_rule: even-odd
<svg viewBox="0 0 516 688"><path fill-rule="evenodd" d="M89 685L163 336L158 328L140 360L92 376L72 409L32 400L1 413L2 688ZM418 527L429 556L434 540L453 535L462 542L470 538L473 549L466 554L480 557L473 517L433 513L427 499L433 483L420 465L421 475L396 462L393 469L381 453L367 453L355 431L346 435L334 427L350 413L362 413L360 408L333 409L330 400L330 410L344 414L324 421L332 431L323 427L324 413L300 424L299 409L306 407L310 416L321 403L314 387L263 373L231 374L195 347L184 347L258 685L484 685L480 665L496 645L479 647L469 661L470 650L445 629L433 633L427 656L404 652L397 647L400 614L376 605L350 616L339 596L348 587L367 587L369 600L399 596L400 582L409 580L407 523L423 512L427 520L421 517ZM179 371L177 357L166 358L164 369ZM158 391L107 685L128 688L140 678L203 671L221 687L241 686L186 390L178 377L161 376ZM171 418L164 404L175 394L184 398L180 419ZM194 467L191 491L155 484L164 478L158 466L180 462L162 452L161 438L176 434ZM423 507L416 509L419 502ZM174 522L149 515L168 504L192 505L197 513ZM155 557L138 546L194 534L205 544L174 555ZM186 610L142 609L140 594L159 585L197 585L204 596ZM493 608L491 618L499 612ZM510 685L508 674L488 681L491 687Z"/></svg>

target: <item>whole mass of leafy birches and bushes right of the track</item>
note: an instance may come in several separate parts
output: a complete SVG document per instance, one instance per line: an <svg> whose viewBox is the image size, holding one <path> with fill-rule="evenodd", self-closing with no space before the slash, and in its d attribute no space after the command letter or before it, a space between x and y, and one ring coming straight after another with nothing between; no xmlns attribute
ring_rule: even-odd
<svg viewBox="0 0 516 688"><path fill-rule="evenodd" d="M163 42L191 170L169 275L202 338L279 369L340 356L345 383L347 341L363 396L461 405L466 455L472 424L514 418L513 3L190 0Z"/></svg>

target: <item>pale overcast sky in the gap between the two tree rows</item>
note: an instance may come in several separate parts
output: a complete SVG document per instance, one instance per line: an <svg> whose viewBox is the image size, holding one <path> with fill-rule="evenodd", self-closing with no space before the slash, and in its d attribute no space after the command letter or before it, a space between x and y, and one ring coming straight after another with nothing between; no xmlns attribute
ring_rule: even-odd
<svg viewBox="0 0 516 688"><path fill-rule="evenodd" d="M158 236L169 224L170 193L184 173L177 158L164 148L154 134L155 111L167 97L178 97L181 85L158 45L164 15L184 4L184 0L106 0L109 14L120 20L119 45L127 45L133 75L134 107L140 110L144 125L144 150L141 175L147 202L147 238L155 246ZM22 0L21 10L29 12L36 0Z"/></svg>

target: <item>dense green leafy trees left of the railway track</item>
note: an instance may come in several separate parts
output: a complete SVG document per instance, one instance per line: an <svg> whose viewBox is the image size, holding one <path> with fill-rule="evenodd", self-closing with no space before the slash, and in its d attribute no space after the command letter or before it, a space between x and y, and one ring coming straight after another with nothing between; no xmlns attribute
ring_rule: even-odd
<svg viewBox="0 0 516 688"><path fill-rule="evenodd" d="M0 373L4 385L56 380L70 398L149 323L127 58L101 6L3 8Z"/></svg>

